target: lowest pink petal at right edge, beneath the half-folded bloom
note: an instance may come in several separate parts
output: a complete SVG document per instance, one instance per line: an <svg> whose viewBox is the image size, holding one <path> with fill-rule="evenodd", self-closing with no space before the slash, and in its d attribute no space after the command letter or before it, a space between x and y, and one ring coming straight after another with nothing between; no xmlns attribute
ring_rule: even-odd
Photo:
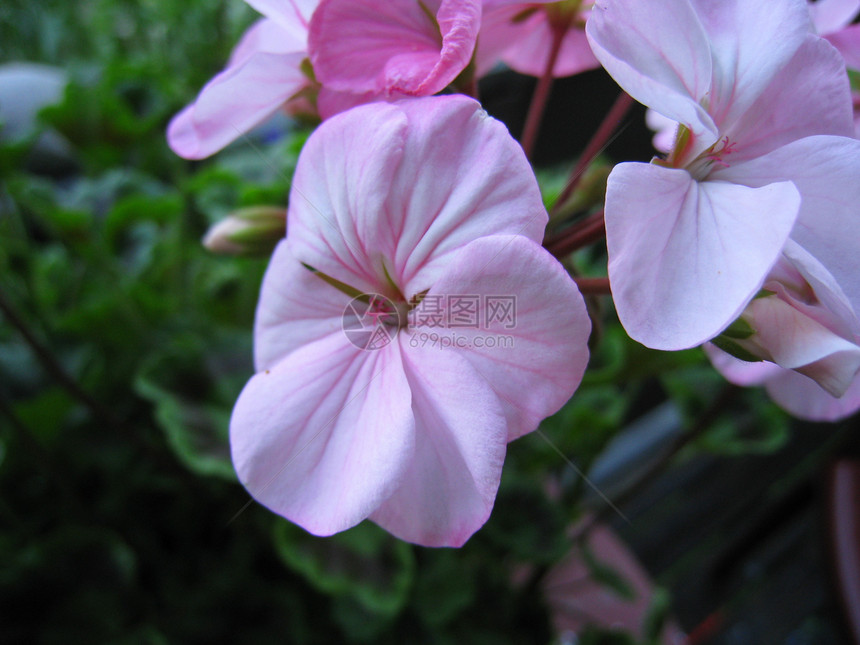
<svg viewBox="0 0 860 645"><path fill-rule="evenodd" d="M781 408L807 421L839 421L860 409L860 378L838 399L812 379L790 370L782 370L765 387Z"/></svg>

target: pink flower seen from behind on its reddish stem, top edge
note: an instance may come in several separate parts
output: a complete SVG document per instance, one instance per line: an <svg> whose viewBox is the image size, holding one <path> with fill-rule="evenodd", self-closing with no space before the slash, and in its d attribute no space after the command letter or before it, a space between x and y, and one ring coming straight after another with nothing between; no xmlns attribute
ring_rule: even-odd
<svg viewBox="0 0 860 645"><path fill-rule="evenodd" d="M572 76L600 66L588 39L585 21L592 2L511 2L484 0L476 58L483 76L502 61L529 76L543 76L556 30L564 31L553 76Z"/></svg>

